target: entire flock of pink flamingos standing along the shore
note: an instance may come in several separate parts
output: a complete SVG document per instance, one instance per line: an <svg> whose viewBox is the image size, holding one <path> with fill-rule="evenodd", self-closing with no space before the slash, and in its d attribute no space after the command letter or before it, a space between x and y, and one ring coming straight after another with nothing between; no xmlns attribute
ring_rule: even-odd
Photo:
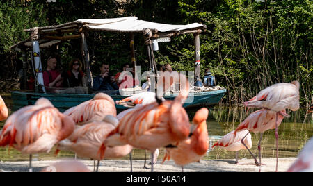
<svg viewBox="0 0 313 186"><path fill-rule="evenodd" d="M170 78L163 75L161 80ZM186 79L180 76L180 82ZM159 88L167 90L170 85ZM0 147L10 146L23 154L49 153L56 145L58 151L72 151L81 158L99 161L111 158L122 158L131 155L133 148L151 152L152 166L159 148L166 148L165 160L174 160L175 164L184 166L198 162L207 153L209 137L207 117L209 110L201 108L195 113L192 124L182 104L186 101L189 85L184 86L174 101L161 98L162 92L143 92L118 104L136 105L117 115L113 99L104 94L96 94L93 99L66 110L58 111L45 98L38 99L35 105L29 105L14 112L8 117L8 108L0 96L0 121L6 120L0 130ZM255 164L261 167L262 133L275 129L278 170L278 126L284 117L289 117L286 109L299 108L299 83L278 83L267 87L257 96L243 103L248 108L259 108L252 112L236 130L220 139L214 146L239 151L252 146L250 133L261 133L258 149L259 160L253 155ZM312 108L308 112L312 112ZM238 162L236 158L236 162ZM70 171L89 171L81 163L60 162L53 165L55 171L64 167ZM62 168L63 167L63 168ZM80 168L77 168L80 167ZM183 171L183 169L182 169ZM298 159L288 171L313 171L313 140L301 151Z"/></svg>

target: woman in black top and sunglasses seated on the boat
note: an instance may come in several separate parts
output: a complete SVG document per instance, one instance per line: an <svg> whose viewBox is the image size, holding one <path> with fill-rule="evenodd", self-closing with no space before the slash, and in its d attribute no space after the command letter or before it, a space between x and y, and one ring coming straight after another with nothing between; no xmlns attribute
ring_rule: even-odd
<svg viewBox="0 0 313 186"><path fill-rule="evenodd" d="M83 64L81 60L74 59L69 64L69 69L65 73L63 73L63 85L64 87L79 87L83 86L83 76L85 74L81 70Z"/></svg>

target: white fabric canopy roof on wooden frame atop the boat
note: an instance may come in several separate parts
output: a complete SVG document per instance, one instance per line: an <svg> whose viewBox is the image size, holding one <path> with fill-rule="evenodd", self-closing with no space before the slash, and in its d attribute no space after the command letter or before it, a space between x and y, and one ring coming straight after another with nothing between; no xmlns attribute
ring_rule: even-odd
<svg viewBox="0 0 313 186"><path fill-rule="evenodd" d="M24 29L26 32L38 32L40 35L37 40L40 48L51 47L63 40L81 38L77 33L86 31L108 31L115 33L143 33L143 30L150 29L152 37L175 37L184 33L195 33L203 30L206 26L193 23L187 25L161 24L138 20L138 17L120 17L109 19L78 19L74 22L68 22L56 26L44 26ZM201 31L200 31L201 32ZM21 51L22 48L31 48L31 38L19 42L10 49Z"/></svg>

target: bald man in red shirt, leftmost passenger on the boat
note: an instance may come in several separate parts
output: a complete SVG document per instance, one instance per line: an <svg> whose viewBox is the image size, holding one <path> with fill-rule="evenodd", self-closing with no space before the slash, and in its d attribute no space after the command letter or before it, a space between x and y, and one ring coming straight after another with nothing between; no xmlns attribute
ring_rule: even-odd
<svg viewBox="0 0 313 186"><path fill-rule="evenodd" d="M47 69L43 71L45 87L63 87L63 77L56 70L56 56L50 56L47 60Z"/></svg>

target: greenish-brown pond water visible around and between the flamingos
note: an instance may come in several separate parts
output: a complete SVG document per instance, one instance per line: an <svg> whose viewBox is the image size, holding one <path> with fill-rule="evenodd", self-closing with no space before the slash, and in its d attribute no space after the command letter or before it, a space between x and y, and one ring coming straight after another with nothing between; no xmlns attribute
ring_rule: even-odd
<svg viewBox="0 0 313 186"><path fill-rule="evenodd" d="M3 96L9 112L12 109L12 99L10 96ZM196 110L187 110L189 118L192 119ZM253 112L250 110L248 114ZM209 131L209 143L212 145L217 142L223 135L234 130L236 126L243 121L248 114L246 110L240 107L220 107L215 106L210 109L209 118L207 120L207 126ZM312 114L306 115L305 110L298 110L296 112L289 112L290 118L284 118L282 124L278 129L280 135L280 158L296 157L307 140L313 136L313 121ZM0 128L2 128L4 122L0 122ZM259 134L252 133L252 153L257 154L257 143L259 141ZM262 158L275 158L276 146L275 146L275 131L268 130L262 137ZM34 155L34 160L56 160L57 158L74 158L74 153L61 151L58 157L54 155L55 149L51 153ZM163 149L160 149L159 160L163 158ZM147 156L149 157L149 155ZM216 160L216 159L233 159L235 157L234 152L229 152L220 148L209 149L204 156L204 160ZM133 158L136 160L143 160L144 151L140 149L134 149ZM252 158L248 151L239 151L239 158ZM125 157L128 159L128 157ZM0 160L2 161L21 161L29 160L29 155L22 155L15 149L0 148Z"/></svg>

